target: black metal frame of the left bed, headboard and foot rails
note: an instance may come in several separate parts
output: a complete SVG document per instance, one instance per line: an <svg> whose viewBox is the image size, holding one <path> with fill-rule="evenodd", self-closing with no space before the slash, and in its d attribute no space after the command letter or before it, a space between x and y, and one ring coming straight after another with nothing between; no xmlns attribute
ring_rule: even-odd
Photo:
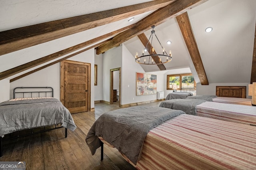
<svg viewBox="0 0 256 170"><path fill-rule="evenodd" d="M49 90L47 90L47 91L44 91L44 90L42 90L42 91L16 91L16 89L49 89ZM13 89L13 98L14 98L14 99L15 99L17 93L22 93L23 98L24 98L24 94L25 94L25 93L30 93L30 97L34 97L34 96L33 96L34 93L38 93L38 94L36 95L36 96L38 96L38 97L42 96L42 95L40 95L40 94L42 94L42 93L45 94L44 97L47 97L47 94L50 93L50 94L51 94L50 97L53 97L53 88L52 88L52 87L16 87L16 88ZM49 126L51 126L51 125L49 125ZM39 127L38 127L38 128L39 128ZM0 157L3 156L3 141L12 140L12 139L19 138L19 137L24 137L24 136L29 136L29 135L37 134L37 133L41 133L41 132L47 132L47 131L54 130L54 129L58 129L58 128L64 128L64 127L61 127L61 126L60 126L60 127L57 127L57 125L55 125L55 127L49 128L49 129L46 129L46 128L44 127L43 130L40 130L40 131L38 131L38 132L34 132L34 129L35 129L35 128L32 128L32 129L31 129L31 132L28 133L28 134L19 135L19 132L20 132L20 131L18 131L18 135L17 135L17 136L12 137L12 138L6 138L6 139L3 139L2 136L0 136ZM68 136L68 131L67 131L67 128L65 128L65 138L66 138L67 136Z"/></svg>

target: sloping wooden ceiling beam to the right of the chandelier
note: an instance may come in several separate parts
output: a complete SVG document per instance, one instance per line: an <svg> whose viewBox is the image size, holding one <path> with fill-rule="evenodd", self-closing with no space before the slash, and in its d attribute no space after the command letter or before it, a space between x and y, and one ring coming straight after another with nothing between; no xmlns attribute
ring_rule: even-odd
<svg viewBox="0 0 256 170"><path fill-rule="evenodd" d="M196 44L196 39L194 37L194 33L193 33L193 30L190 25L188 13L184 12L183 14L176 16L176 19L180 26L182 36L183 36L185 43L188 47L190 57L194 63L196 72L200 79L200 83L201 83L201 85L209 85L208 79L206 77L206 73L204 71L204 65L203 65L199 50L198 50L198 46Z"/></svg>

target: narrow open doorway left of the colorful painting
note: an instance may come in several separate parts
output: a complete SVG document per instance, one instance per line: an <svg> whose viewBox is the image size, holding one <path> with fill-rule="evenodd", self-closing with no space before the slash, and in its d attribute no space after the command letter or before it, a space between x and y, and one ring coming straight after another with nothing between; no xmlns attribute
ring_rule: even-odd
<svg viewBox="0 0 256 170"><path fill-rule="evenodd" d="M121 107L121 68L110 69L110 105Z"/></svg>

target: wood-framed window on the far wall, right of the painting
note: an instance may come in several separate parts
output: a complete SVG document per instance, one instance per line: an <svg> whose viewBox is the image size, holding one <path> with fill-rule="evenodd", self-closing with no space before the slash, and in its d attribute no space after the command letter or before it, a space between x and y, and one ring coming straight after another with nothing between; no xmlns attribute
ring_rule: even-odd
<svg viewBox="0 0 256 170"><path fill-rule="evenodd" d="M167 90L196 89L196 82L191 73L167 75Z"/></svg>

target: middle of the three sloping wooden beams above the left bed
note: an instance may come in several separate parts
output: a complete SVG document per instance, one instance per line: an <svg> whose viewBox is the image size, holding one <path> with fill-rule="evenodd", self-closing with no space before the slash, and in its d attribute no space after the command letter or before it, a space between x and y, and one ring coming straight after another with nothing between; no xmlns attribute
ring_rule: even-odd
<svg viewBox="0 0 256 170"><path fill-rule="evenodd" d="M56 53L47 55L45 57L36 59L34 61L30 61L28 63L25 63L25 64L19 65L17 67L14 67L12 69L8 69L6 71L3 71L3 72L0 73L0 80L6 79L6 78L8 78L8 77L10 77L12 75L21 73L22 71L26 71L26 70L28 70L30 68L33 68L33 67L36 67L38 65L44 64L44 63L46 63L48 61L52 61L52 60L57 59L57 58L59 58L59 57L61 57L63 55L66 55L66 54L71 53L73 51L79 50L79 49L84 48L84 47L86 47L88 45L92 45L93 43L97 43L97 42L102 41L102 40L104 40L106 38L110 38L111 36L114 36L115 34L118 34L118 33L122 32L122 31L125 31L125 30L131 28L132 26L133 25L121 28L119 30L116 30L114 32L105 34L105 35L97 37L97 38L94 38L94 39L89 40L87 42L80 43L80 44L75 45L73 47L69 47L69 48L63 49L63 50L58 51Z"/></svg>

